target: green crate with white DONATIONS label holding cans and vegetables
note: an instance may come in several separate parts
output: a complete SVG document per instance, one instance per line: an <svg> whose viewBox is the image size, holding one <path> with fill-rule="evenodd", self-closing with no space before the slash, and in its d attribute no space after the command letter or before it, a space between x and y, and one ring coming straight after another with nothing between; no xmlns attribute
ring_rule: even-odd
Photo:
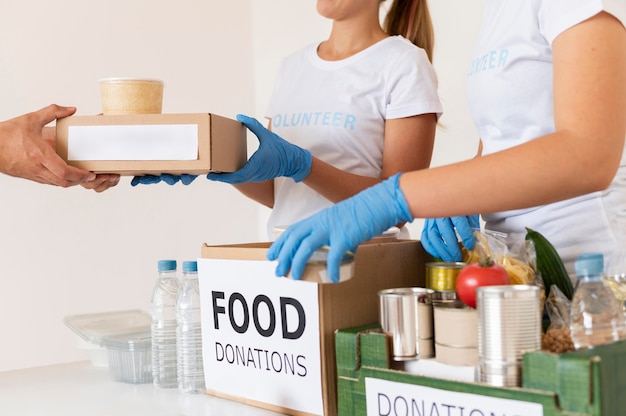
<svg viewBox="0 0 626 416"><path fill-rule="evenodd" d="M378 324L337 331L335 342L339 415L619 416L626 408L626 341L526 353L516 388L391 369L391 339Z"/></svg>

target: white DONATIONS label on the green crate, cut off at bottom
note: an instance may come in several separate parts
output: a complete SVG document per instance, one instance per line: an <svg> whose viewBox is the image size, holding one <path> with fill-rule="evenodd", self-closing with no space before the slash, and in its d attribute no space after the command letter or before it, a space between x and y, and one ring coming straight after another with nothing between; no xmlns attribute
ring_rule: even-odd
<svg viewBox="0 0 626 416"><path fill-rule="evenodd" d="M367 416L543 416L539 403L365 379Z"/></svg>

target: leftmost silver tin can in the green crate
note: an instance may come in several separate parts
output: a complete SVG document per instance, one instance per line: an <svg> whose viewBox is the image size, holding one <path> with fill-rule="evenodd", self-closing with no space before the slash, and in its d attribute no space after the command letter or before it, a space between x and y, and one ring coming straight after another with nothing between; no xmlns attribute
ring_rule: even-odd
<svg viewBox="0 0 626 416"><path fill-rule="evenodd" d="M386 289L378 292L380 325L392 338L396 361L434 356L432 296L423 287Z"/></svg>

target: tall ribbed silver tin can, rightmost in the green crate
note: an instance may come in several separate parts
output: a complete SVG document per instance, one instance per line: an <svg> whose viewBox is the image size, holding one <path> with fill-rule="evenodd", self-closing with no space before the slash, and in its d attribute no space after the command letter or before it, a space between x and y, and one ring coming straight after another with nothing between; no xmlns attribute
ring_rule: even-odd
<svg viewBox="0 0 626 416"><path fill-rule="evenodd" d="M522 355L541 349L540 292L530 285L476 290L478 381L499 387L521 385Z"/></svg>

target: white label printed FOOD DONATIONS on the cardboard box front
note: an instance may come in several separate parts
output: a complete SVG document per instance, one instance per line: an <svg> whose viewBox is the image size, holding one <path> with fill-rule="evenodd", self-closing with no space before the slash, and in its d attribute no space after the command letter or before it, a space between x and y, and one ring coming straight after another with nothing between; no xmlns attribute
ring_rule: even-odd
<svg viewBox="0 0 626 416"><path fill-rule="evenodd" d="M198 259L206 387L323 413L317 284L276 262Z"/></svg>

